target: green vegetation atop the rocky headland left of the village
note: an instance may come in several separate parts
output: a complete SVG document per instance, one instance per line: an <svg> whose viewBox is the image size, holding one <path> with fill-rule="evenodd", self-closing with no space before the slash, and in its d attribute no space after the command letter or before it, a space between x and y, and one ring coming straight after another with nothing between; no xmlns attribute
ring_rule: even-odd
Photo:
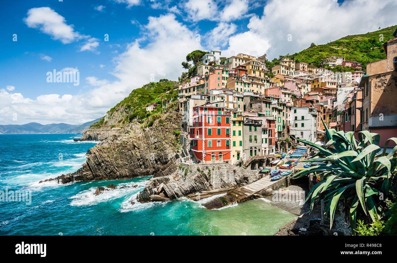
<svg viewBox="0 0 397 263"><path fill-rule="evenodd" d="M158 117L158 113L161 113L162 110L167 111L176 107L178 92L177 90L173 90L173 88L177 84L177 81L169 81L168 79L160 79L159 82L145 84L142 88L133 90L128 97L110 109L108 113L111 116L116 109L124 111L123 119L119 119L118 121L123 124L129 123L133 119L143 122L150 118L151 115ZM172 100L171 104L169 104L170 100ZM162 103L164 106L166 104L169 105L167 108L162 109ZM156 106L154 111L146 111L146 107L150 104ZM104 123L104 117L91 125L90 128L99 128L102 125L106 125Z"/></svg>

